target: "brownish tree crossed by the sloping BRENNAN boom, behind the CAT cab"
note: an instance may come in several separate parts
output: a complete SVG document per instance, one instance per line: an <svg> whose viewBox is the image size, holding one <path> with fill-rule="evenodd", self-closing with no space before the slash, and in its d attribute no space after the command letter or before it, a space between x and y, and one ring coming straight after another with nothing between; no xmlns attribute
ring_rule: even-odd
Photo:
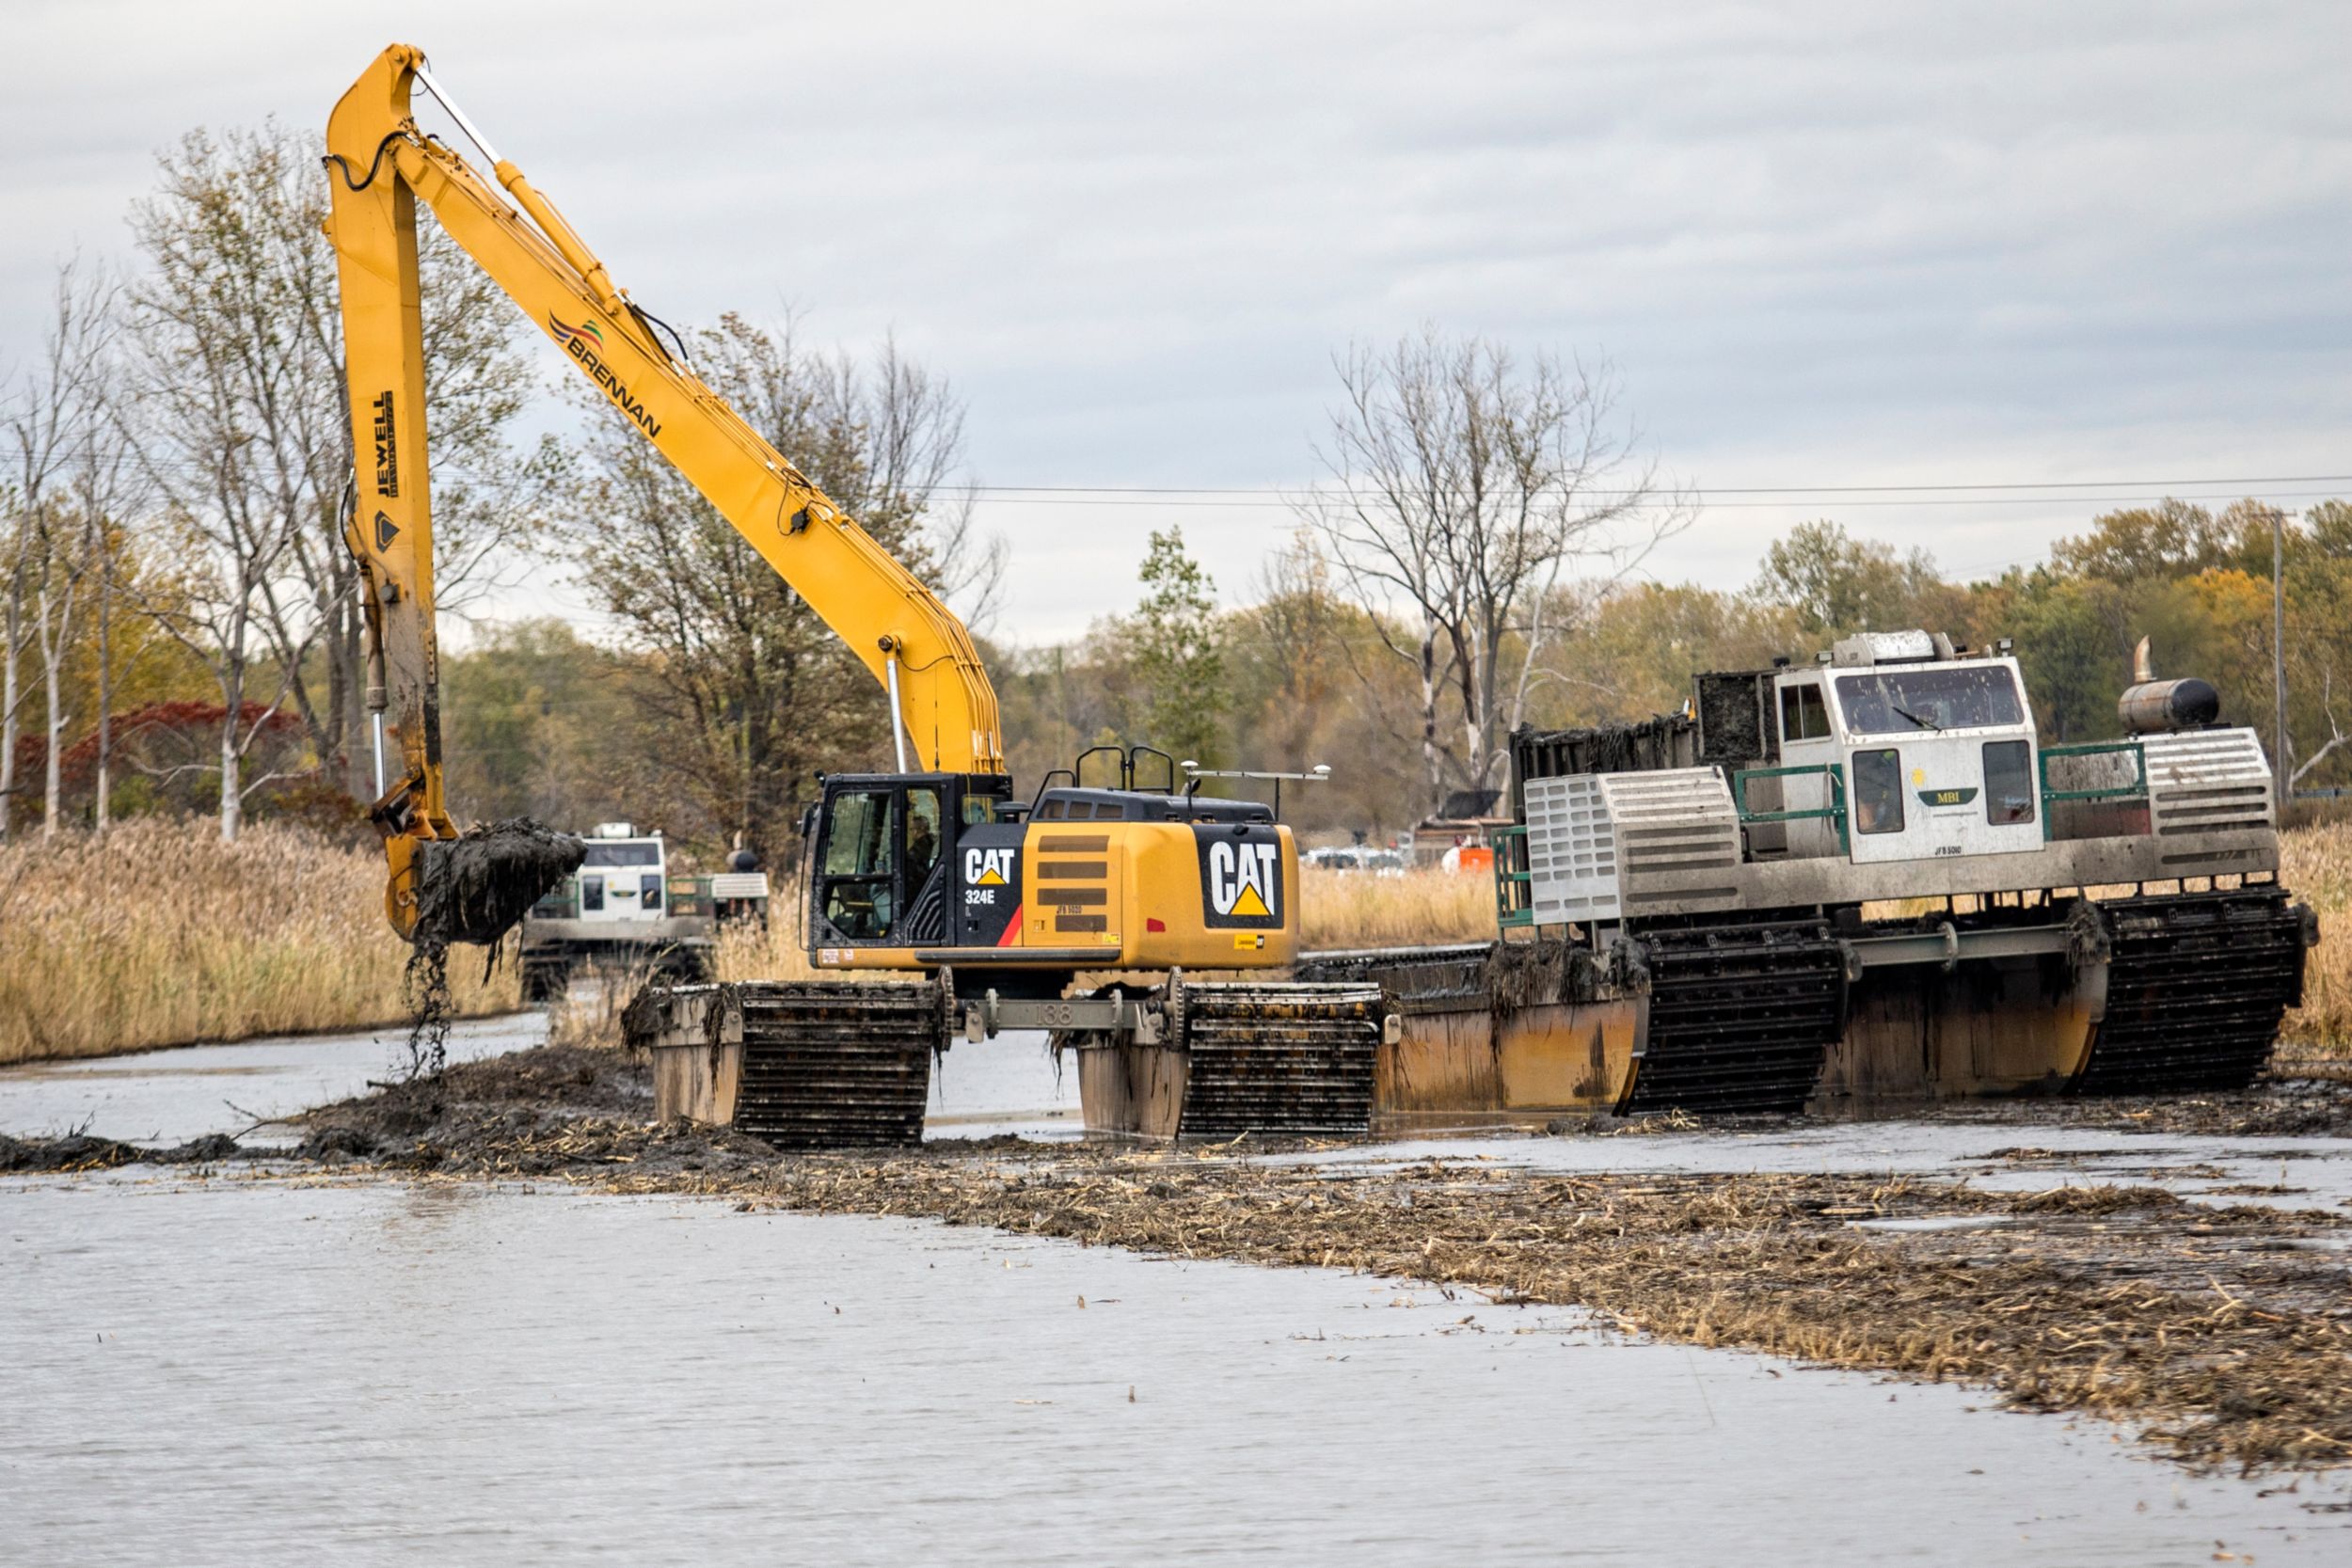
<svg viewBox="0 0 2352 1568"><path fill-rule="evenodd" d="M884 343L814 353L790 324L739 315L687 334L701 378L884 550L967 602L995 592L1002 550L969 527L953 477L962 402ZM889 757L880 689L807 599L644 437L602 416L588 435L581 585L649 656L654 788L691 830L774 851L814 769Z"/></svg>

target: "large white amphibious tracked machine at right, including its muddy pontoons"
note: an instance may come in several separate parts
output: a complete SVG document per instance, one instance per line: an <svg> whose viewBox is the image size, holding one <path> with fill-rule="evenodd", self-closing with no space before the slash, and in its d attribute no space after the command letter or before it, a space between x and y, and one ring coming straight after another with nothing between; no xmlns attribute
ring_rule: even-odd
<svg viewBox="0 0 2352 1568"><path fill-rule="evenodd" d="M2049 745L2006 642L1839 639L1512 736L1501 943L1317 954L1404 1016L1390 1128L2241 1088L2303 997L2272 769L2145 668Z"/></svg>

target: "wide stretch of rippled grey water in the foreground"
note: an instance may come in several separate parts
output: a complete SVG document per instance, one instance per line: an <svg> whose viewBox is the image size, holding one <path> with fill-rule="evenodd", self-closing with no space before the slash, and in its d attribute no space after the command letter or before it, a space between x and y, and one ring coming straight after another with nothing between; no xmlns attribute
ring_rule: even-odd
<svg viewBox="0 0 2352 1568"><path fill-rule="evenodd" d="M1957 1389L1336 1272L550 1190L0 1180L0 1366L9 1561L2352 1556L2312 1481Z"/></svg>

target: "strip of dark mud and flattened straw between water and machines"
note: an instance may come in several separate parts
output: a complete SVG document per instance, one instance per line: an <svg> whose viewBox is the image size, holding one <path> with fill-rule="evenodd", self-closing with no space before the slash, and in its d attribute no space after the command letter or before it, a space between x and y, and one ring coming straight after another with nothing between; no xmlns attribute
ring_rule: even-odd
<svg viewBox="0 0 2352 1568"><path fill-rule="evenodd" d="M2251 1095L2246 1114L2267 1114L2263 1100ZM1411 1159L1376 1143L1138 1150L1014 1138L783 1157L722 1128L654 1126L647 1105L640 1065L541 1048L313 1112L296 1152L355 1175L555 1178L1432 1281L1484 1300L1583 1307L1635 1335L2098 1415L2187 1467L2352 1467L2352 1208L2340 1201L2079 1182L2065 1157L2023 1143L1980 1150L1976 1168L1947 1175L1571 1173L1479 1157L1494 1140ZM1886 1138L1903 1128L1870 1124ZM1573 1159L1646 1143L1501 1147ZM14 1161L40 1168L42 1145L19 1143ZM52 1164L113 1161L59 1150ZM1985 1168L2004 1180L1983 1180Z"/></svg>

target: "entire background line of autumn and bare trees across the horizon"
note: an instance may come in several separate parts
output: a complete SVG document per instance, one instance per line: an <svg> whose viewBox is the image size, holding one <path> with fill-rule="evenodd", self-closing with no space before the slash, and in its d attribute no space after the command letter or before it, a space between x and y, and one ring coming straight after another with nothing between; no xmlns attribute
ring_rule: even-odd
<svg viewBox="0 0 2352 1568"><path fill-rule="evenodd" d="M360 835L372 795L325 181L303 134L191 134L132 207L134 254L59 270L7 357L0 835L122 816ZM793 853L816 769L880 769L882 696L807 604L423 219L452 802L463 816L661 825ZM981 632L1021 788L1087 745L1207 766L1331 764L1310 830L1388 837L1505 783L1508 733L1670 710L1696 670L1809 658L1846 630L2013 637L2044 736L2114 733L2131 646L2272 710L2272 536L2291 766L2343 785L2352 505L2166 501L2086 515L2049 559L1947 578L1818 520L1759 536L1724 592L1649 581L1693 515L1630 440L1609 367L1428 331L1338 357L1322 477L1265 559L1138 543L1134 607L1061 646L1000 625L955 390L894 343L722 317L696 371ZM550 397L553 393L553 397ZM564 418L550 418L567 411ZM541 428L560 425L560 428ZM1025 571L1049 562L1023 559ZM564 576L597 611L468 623ZM1218 785L1232 788L1232 785Z"/></svg>

